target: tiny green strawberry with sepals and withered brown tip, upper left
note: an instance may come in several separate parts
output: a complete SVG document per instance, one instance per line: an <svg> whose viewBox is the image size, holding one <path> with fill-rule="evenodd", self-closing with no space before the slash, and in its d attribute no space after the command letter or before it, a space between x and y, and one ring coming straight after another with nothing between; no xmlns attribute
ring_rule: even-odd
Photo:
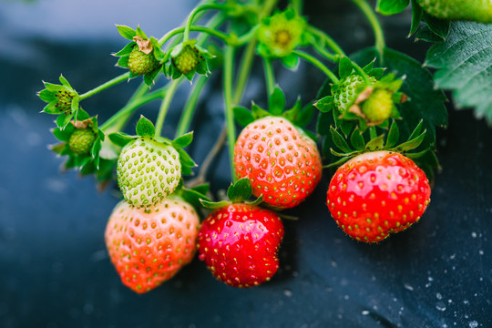
<svg viewBox="0 0 492 328"><path fill-rule="evenodd" d="M139 26L137 29L128 26L117 28L121 36L131 41L114 54L119 56L117 66L128 68L129 78L143 76L145 83L152 85L162 67L161 62L166 59L159 41L153 36L146 36Z"/></svg>

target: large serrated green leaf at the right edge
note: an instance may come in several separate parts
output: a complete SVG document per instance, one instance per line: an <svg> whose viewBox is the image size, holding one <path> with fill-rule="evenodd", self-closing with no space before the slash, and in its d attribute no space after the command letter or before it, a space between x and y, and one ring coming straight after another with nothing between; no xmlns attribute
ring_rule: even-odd
<svg viewBox="0 0 492 328"><path fill-rule="evenodd" d="M425 65L437 68L436 87L452 91L456 108L474 108L492 125L492 25L453 22L446 41L432 46Z"/></svg>

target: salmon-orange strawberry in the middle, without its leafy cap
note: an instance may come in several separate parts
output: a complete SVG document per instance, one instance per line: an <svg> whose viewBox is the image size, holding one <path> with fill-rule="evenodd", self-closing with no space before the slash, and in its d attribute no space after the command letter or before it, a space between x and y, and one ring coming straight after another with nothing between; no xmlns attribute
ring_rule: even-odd
<svg viewBox="0 0 492 328"><path fill-rule="evenodd" d="M234 166L238 178L251 180L256 197L284 209L313 192L323 169L314 141L281 117L261 118L242 130Z"/></svg>

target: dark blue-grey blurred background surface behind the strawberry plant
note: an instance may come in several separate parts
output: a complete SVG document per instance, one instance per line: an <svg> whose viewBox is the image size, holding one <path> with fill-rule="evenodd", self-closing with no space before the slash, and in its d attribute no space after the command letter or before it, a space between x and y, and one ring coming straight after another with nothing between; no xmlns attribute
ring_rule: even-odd
<svg viewBox="0 0 492 328"><path fill-rule="evenodd" d="M306 15L347 53L370 46L369 27L348 1L306 1ZM101 4L102 3L102 4ZM179 5L178 5L179 4ZM432 201L422 220L378 245L352 241L325 205L326 172L313 196L286 221L281 270L257 288L234 289L195 259L171 281L138 295L119 281L104 229L118 202L113 188L60 174L63 159L46 145L54 117L39 114L42 80L61 73L80 92L121 74L109 56L125 44L114 24L161 36L179 26L195 1L0 0L0 327L492 327L492 128L472 111L449 107L438 129ZM410 13L384 18L388 46L423 61L429 45L407 38ZM312 67L277 67L288 105L311 100L323 82ZM244 105L264 103L261 66ZM220 77L202 97L190 146L200 163L222 124ZM139 81L83 103L104 120ZM166 118L172 137L189 87ZM142 108L155 118L159 105ZM130 130L134 123L130 125ZM227 154L210 171L227 187Z"/></svg>

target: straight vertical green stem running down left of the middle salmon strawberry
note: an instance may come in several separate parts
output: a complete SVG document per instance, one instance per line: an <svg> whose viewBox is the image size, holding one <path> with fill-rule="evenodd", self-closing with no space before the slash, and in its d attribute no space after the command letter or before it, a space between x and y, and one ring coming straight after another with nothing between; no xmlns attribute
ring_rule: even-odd
<svg viewBox="0 0 492 328"><path fill-rule="evenodd" d="M236 180L234 174L234 145L236 143L236 128L234 126L234 113L232 110L232 78L234 75L234 48L226 46L224 53L223 68L223 89L224 89L224 107L227 124L227 140L229 144L229 160L231 164L232 180Z"/></svg>

